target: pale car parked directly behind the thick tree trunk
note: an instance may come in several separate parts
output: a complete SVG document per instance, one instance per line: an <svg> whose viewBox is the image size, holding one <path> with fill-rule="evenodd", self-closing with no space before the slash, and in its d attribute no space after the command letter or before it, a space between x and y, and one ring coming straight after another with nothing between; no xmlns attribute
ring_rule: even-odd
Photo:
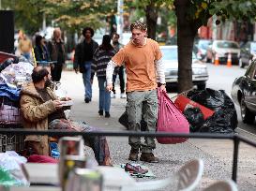
<svg viewBox="0 0 256 191"><path fill-rule="evenodd" d="M178 81L178 47L160 46L163 54L163 63L165 67L165 82L167 88L177 84ZM192 81L198 89L203 90L208 80L207 66L197 59L196 54L192 52Z"/></svg>

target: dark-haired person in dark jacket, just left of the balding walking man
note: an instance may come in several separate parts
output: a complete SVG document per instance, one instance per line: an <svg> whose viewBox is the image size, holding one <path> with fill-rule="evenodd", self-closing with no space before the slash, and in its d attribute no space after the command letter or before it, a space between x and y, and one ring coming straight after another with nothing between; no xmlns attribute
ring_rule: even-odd
<svg viewBox="0 0 256 191"><path fill-rule="evenodd" d="M39 35L36 36L36 46L34 47L34 52L37 61L48 62L51 60L44 38Z"/></svg>

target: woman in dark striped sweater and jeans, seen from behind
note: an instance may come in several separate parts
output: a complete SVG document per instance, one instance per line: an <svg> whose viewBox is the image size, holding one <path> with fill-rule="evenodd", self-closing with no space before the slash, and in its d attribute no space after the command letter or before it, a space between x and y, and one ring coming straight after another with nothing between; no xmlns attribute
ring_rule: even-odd
<svg viewBox="0 0 256 191"><path fill-rule="evenodd" d="M106 67L116 51L111 45L111 37L109 35L103 36L102 44L94 53L92 63L92 81L97 73L98 77L98 89L99 89L99 103L98 114L103 115L105 111L105 117L109 118L111 108L111 92L106 90Z"/></svg>

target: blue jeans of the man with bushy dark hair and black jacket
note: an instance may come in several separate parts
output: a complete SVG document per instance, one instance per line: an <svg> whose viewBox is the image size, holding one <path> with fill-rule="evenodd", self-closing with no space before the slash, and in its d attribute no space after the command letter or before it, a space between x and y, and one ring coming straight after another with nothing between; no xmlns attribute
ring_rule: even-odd
<svg viewBox="0 0 256 191"><path fill-rule="evenodd" d="M92 99L92 84L91 84L91 61L86 61L83 65L83 85L84 85L84 98Z"/></svg>

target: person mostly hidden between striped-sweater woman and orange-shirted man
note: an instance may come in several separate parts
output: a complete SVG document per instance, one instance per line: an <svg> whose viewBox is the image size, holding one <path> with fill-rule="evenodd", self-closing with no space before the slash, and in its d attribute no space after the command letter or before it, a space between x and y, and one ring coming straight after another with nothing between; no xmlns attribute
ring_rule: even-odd
<svg viewBox="0 0 256 191"><path fill-rule="evenodd" d="M113 44L113 48L114 50L117 52L119 51L121 48L123 48L124 46L119 42L119 35L117 33L113 34L113 38L112 38L112 44ZM119 82L120 82L120 92L121 98L127 98L126 93L125 93L125 77L124 77L124 66L116 66L114 68L114 71L118 74L119 76ZM116 74L113 74L113 90L112 90L112 98L115 98L115 94L116 91L114 89L114 83L116 80Z"/></svg>

